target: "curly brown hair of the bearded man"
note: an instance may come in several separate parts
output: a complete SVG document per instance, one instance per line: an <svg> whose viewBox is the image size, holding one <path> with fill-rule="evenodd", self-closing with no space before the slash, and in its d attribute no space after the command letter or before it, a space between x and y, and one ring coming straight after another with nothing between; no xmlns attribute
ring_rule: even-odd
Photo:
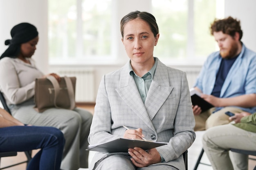
<svg viewBox="0 0 256 170"><path fill-rule="evenodd" d="M228 34L234 37L235 33L239 33L239 40L243 37L243 31L241 30L240 21L232 17L228 17L222 20L215 19L210 26L211 35L213 32L222 31L222 33Z"/></svg>

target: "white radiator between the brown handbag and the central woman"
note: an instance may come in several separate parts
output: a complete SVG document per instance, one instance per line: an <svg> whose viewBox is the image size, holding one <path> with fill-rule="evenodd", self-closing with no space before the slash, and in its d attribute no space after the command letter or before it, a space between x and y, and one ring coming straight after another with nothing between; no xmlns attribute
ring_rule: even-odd
<svg viewBox="0 0 256 170"><path fill-rule="evenodd" d="M95 102L95 76L92 69L66 67L57 73L61 76L76 77L76 102Z"/></svg>

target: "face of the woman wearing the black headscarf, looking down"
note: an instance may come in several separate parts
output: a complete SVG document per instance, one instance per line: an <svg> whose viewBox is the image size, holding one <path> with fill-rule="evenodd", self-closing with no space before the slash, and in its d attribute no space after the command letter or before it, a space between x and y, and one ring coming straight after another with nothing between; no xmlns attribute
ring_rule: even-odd
<svg viewBox="0 0 256 170"><path fill-rule="evenodd" d="M30 58L36 51L36 44L38 43L38 36L29 42L25 42L20 45L20 55L23 58Z"/></svg>

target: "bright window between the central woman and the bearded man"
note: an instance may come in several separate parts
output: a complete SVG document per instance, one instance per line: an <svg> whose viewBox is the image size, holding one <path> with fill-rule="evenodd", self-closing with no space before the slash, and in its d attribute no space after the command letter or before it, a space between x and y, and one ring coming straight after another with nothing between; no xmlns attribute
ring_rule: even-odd
<svg viewBox="0 0 256 170"><path fill-rule="evenodd" d="M202 60L216 50L210 23L216 0L152 0L160 38L155 55L172 61Z"/></svg>

